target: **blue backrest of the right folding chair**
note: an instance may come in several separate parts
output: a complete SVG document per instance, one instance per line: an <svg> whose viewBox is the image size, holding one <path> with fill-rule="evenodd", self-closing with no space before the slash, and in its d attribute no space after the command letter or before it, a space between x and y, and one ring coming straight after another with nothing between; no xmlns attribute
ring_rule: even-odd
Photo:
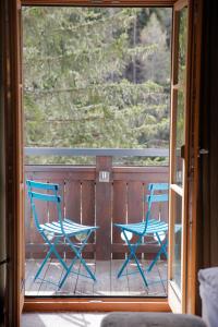
<svg viewBox="0 0 218 327"><path fill-rule="evenodd" d="M164 203L168 202L169 184L168 183L150 183L148 184L149 194L146 195L146 202L148 204L146 217L145 217L145 228L147 228L148 220L152 216L152 206L154 203ZM158 192L158 194L157 194ZM161 193L160 193L161 192Z"/></svg>

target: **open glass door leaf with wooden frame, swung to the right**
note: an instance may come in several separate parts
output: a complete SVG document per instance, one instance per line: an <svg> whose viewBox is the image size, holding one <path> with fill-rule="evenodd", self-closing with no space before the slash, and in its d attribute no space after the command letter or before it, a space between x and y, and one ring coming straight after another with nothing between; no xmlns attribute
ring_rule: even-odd
<svg viewBox="0 0 218 327"><path fill-rule="evenodd" d="M173 11L170 144L169 303L184 312L187 174L187 43L189 5L178 1Z"/></svg>

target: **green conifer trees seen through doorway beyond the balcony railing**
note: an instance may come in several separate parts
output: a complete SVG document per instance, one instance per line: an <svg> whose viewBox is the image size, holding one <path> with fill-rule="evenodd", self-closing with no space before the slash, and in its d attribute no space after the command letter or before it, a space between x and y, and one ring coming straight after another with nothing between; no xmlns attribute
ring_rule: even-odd
<svg viewBox="0 0 218 327"><path fill-rule="evenodd" d="M170 41L170 9L24 8L25 146L168 148ZM92 158L26 161L90 164Z"/></svg>

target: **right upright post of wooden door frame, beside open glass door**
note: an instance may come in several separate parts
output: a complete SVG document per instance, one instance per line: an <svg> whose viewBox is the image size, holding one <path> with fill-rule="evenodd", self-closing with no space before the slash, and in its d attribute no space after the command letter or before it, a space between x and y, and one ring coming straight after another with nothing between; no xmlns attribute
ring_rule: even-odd
<svg viewBox="0 0 218 327"><path fill-rule="evenodd" d="M186 0L180 0L179 7L185 4ZM189 2L189 1L187 1ZM185 302L183 303L184 313L199 314L196 302L198 301L198 283L197 283L197 266L196 266L196 242L197 235L197 209L198 201L198 143L199 143L199 101L201 101L201 55L202 55L202 28L203 28L203 1L190 1L190 27L189 27L189 47L190 58L187 58L187 70L190 75L187 78L186 106L189 113L189 135L186 140L185 156L187 158L186 171L186 199L185 199L185 276L184 286ZM197 300L197 301L196 301Z"/></svg>

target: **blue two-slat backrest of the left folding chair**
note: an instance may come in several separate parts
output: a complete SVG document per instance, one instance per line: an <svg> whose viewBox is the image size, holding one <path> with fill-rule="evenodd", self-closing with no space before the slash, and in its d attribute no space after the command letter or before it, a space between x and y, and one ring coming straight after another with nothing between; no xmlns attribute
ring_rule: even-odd
<svg viewBox="0 0 218 327"><path fill-rule="evenodd" d="M58 210L58 218L59 221L62 226L62 217L61 217L61 196L58 195L58 190L59 185L58 184L50 184L50 183L41 183L41 182L36 182L36 181L26 181L27 185L27 193L28 197L31 199L31 207L33 210L34 215L34 221L36 225L37 229L40 229L40 222L39 222L39 217L37 215L37 208L36 208L36 202L51 202L57 205L57 210ZM37 192L35 192L35 189ZM34 191L33 191L34 190ZM51 191L52 194L44 193L45 191Z"/></svg>

